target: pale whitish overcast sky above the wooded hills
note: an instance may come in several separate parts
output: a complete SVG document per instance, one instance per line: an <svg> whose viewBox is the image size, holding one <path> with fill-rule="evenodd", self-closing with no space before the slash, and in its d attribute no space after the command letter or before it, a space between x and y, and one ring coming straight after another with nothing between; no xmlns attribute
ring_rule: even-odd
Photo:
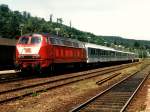
<svg viewBox="0 0 150 112"><path fill-rule="evenodd" d="M95 35L150 40L150 0L0 0L11 10L53 21L71 21L76 29Z"/></svg>

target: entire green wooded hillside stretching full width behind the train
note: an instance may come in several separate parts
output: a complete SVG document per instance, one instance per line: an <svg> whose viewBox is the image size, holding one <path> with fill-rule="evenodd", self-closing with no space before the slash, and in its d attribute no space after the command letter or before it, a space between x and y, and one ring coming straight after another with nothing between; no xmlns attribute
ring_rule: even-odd
<svg viewBox="0 0 150 112"><path fill-rule="evenodd" d="M97 36L64 25L62 18L57 18L57 22L54 22L50 16L49 21L46 21L44 18L33 17L26 11L12 11L8 5L0 5L0 37L13 39L27 33L56 35L57 32L59 36L136 52L140 57L145 57L150 52L150 41L124 39L116 36Z"/></svg>

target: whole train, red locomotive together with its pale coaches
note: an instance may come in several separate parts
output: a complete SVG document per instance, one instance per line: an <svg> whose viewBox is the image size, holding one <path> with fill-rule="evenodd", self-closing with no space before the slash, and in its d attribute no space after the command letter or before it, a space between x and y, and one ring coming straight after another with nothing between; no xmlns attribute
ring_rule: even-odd
<svg viewBox="0 0 150 112"><path fill-rule="evenodd" d="M16 44L16 70L53 71L56 65L86 66L135 61L137 54L51 34L23 35Z"/></svg>

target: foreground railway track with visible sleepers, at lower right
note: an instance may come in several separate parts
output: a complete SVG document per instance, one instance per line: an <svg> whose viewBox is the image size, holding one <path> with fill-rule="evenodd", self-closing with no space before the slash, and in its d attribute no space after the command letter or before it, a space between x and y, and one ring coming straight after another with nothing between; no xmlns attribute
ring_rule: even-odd
<svg viewBox="0 0 150 112"><path fill-rule="evenodd" d="M124 78L70 112L123 112L150 74L150 66Z"/></svg>

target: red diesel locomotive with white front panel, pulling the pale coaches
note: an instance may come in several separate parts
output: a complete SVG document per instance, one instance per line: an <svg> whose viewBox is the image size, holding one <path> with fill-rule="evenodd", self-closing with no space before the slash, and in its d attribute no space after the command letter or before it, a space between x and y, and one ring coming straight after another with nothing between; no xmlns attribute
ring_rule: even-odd
<svg viewBox="0 0 150 112"><path fill-rule="evenodd" d="M17 69L42 71L57 64L86 62L84 44L49 34L24 35L16 45Z"/></svg>

